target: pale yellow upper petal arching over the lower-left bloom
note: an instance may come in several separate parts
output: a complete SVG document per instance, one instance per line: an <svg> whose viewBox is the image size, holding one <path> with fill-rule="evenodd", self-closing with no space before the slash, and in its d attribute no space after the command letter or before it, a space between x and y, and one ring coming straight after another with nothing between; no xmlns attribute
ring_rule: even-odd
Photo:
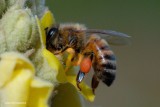
<svg viewBox="0 0 160 107"><path fill-rule="evenodd" d="M2 87L12 77L13 70L16 65L18 67L25 67L34 71L31 62L20 54L15 52L4 53L1 55L0 61L0 87Z"/></svg>

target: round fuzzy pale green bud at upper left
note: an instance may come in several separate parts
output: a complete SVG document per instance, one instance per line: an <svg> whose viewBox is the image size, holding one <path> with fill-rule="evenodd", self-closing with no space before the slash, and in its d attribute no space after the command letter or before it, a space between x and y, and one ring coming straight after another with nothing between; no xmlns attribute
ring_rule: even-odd
<svg viewBox="0 0 160 107"><path fill-rule="evenodd" d="M13 6L0 20L0 36L5 38L6 51L26 52L39 40L37 23L30 9ZM3 49L4 50L4 49ZM0 52L3 52L0 49Z"/></svg>

